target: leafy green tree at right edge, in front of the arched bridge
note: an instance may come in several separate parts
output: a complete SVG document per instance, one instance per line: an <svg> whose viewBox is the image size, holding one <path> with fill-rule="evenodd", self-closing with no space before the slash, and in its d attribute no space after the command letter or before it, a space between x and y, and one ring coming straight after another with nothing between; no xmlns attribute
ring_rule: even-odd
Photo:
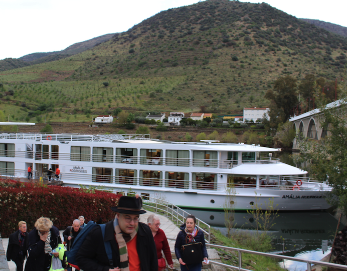
<svg viewBox="0 0 347 271"><path fill-rule="evenodd" d="M307 162L306 169L315 179L327 182L332 191L327 200L336 204L347 214L347 84L339 88L341 93L339 106L326 107L320 88L315 89L316 103L322 113L320 125L327 131L327 136L320 141L300 139L297 136L300 154L296 162ZM342 113L342 114L341 114ZM309 163L308 163L309 162Z"/></svg>

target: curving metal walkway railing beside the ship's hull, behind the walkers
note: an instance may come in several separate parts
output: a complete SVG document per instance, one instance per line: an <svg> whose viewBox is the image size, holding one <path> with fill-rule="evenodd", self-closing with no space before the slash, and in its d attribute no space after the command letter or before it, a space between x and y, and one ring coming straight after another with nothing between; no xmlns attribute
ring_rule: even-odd
<svg viewBox="0 0 347 271"><path fill-rule="evenodd" d="M97 188L97 190L101 191L108 191L113 193L120 193L122 195L127 196L134 196L135 192L124 192L124 191L117 191L117 190L107 190L107 189L100 189ZM160 198L160 195L158 198L156 197L150 197L149 194L143 193L141 194L142 203L143 206L146 206L146 209L148 210L154 210L154 212L158 213L164 213L167 218L169 218L172 222L176 223L176 225L181 225L185 223L185 218L190 215L189 212L181 209L180 207L168 202L165 200L165 195L161 195L162 198ZM197 219L197 226L208 236L206 242L211 242L211 226L204 222L203 220Z"/></svg>

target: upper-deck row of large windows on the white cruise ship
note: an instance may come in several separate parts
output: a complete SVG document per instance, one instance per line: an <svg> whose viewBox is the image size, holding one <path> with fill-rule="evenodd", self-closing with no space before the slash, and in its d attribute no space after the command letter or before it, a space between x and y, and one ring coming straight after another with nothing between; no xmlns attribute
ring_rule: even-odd
<svg viewBox="0 0 347 271"><path fill-rule="evenodd" d="M35 155L36 160L53 159L58 160L59 156L64 157L66 154L59 154L59 146L52 145L49 152L49 145L36 145L36 151L31 155ZM116 148L114 156L113 148L71 146L71 161L90 161L107 162L107 163L132 163L137 164L163 164L172 166L189 166L190 152L188 150L166 150L163 157L163 150L160 149L140 149L139 161L138 150L132 148ZM15 144L0 144L0 156L15 157ZM115 159L114 159L115 158ZM217 167L218 153L217 151L193 151L193 166ZM243 152L242 161L254 161L256 159L255 152ZM228 152L228 160L233 163L238 161L237 152Z"/></svg>

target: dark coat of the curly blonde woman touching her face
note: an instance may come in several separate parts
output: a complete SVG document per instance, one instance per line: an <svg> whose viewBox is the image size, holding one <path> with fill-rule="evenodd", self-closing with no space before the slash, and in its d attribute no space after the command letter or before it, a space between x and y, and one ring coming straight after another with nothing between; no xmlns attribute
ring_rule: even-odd
<svg viewBox="0 0 347 271"><path fill-rule="evenodd" d="M56 248L62 242L57 227L52 226L51 247ZM29 257L25 265L25 271L47 271L51 267L52 256L45 253L45 242L40 239L38 230L34 228L29 233Z"/></svg>

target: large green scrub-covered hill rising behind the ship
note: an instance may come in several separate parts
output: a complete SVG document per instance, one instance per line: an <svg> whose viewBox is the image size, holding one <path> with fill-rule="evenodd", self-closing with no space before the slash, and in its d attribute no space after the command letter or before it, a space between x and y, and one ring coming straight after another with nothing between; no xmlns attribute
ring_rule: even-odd
<svg viewBox="0 0 347 271"><path fill-rule="evenodd" d="M241 112L268 106L264 95L281 76L334 80L346 50L347 39L265 3L208 0L163 11L78 55L1 72L3 92L14 90L2 100L18 118L51 112L68 121L117 107Z"/></svg>

